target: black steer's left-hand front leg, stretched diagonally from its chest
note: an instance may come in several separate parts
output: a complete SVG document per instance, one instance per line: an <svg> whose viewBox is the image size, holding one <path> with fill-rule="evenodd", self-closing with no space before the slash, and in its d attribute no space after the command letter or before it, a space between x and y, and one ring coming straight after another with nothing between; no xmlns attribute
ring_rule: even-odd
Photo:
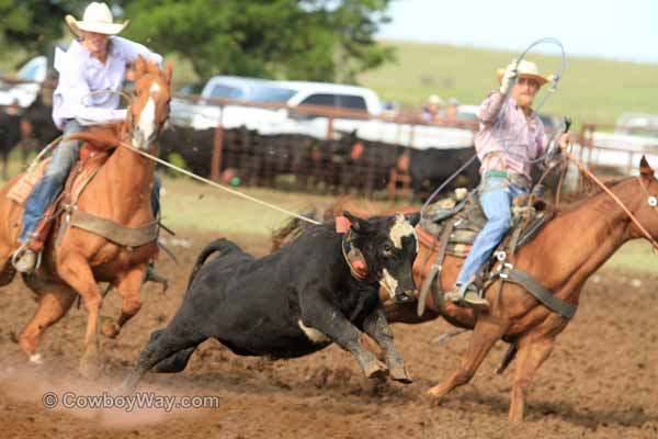
<svg viewBox="0 0 658 439"><path fill-rule="evenodd" d="M362 344L363 333L345 318L340 309L321 293L308 294L300 302L300 320L307 328L318 330L354 356L367 378L386 373L386 367Z"/></svg>

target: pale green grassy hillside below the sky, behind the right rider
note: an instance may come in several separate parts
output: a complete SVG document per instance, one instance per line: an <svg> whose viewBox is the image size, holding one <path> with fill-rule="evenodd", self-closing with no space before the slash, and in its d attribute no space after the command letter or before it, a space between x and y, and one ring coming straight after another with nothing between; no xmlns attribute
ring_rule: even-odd
<svg viewBox="0 0 658 439"><path fill-rule="evenodd" d="M419 108L429 94L456 97L464 104L479 104L497 87L496 69L518 53L439 44L385 42L395 47L397 60L363 74L359 80L386 100ZM551 46L545 46L553 50ZM658 113L658 65L621 63L568 56L558 91L543 112L569 115L577 122L614 122L626 111ZM555 48L557 50L557 48ZM557 52L556 52L557 53ZM558 69L557 56L530 54L540 70Z"/></svg>

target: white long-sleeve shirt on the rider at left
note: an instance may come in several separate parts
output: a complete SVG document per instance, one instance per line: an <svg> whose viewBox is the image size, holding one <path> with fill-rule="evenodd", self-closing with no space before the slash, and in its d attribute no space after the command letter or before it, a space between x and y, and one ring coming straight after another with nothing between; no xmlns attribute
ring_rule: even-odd
<svg viewBox="0 0 658 439"><path fill-rule="evenodd" d="M137 57L162 64L162 57L146 46L121 36L109 41L105 64L94 58L78 41L69 46L64 60L59 60L59 81L53 93L53 121L60 130L68 119L82 125L121 121L126 110L118 110L121 97L116 93L94 93L97 90L120 91L129 64Z"/></svg>

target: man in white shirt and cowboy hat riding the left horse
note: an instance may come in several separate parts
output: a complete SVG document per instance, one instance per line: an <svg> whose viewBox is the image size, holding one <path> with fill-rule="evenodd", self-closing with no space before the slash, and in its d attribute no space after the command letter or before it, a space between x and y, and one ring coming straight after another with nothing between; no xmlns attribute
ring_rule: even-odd
<svg viewBox="0 0 658 439"><path fill-rule="evenodd" d="M116 36L128 21L115 23L105 3L92 2L84 9L82 20L67 15L66 22L78 38L66 54L58 53L55 59L59 81L53 94L53 120L64 132L64 140L53 153L44 176L25 202L23 229L19 236L22 245L12 258L16 270L21 272L34 270L36 254L30 249L34 230L79 158L82 142L67 140L66 137L89 125L124 120L126 110L118 109L120 95L112 91L123 88L127 66L140 55L157 64L162 63L160 55L141 44ZM102 90L110 92L94 93ZM159 180L156 179L151 194L156 215L159 209L158 187Z"/></svg>

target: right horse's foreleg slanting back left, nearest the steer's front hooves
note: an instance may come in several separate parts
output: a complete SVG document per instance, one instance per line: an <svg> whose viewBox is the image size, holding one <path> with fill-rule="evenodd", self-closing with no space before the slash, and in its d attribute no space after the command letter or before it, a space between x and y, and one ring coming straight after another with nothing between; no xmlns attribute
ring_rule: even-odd
<svg viewBox="0 0 658 439"><path fill-rule="evenodd" d="M460 368L444 382L428 391L430 396L441 399L453 389L464 385L470 381L489 350L507 330L500 322L491 322L480 316L473 329L473 337L468 348L462 356Z"/></svg>

